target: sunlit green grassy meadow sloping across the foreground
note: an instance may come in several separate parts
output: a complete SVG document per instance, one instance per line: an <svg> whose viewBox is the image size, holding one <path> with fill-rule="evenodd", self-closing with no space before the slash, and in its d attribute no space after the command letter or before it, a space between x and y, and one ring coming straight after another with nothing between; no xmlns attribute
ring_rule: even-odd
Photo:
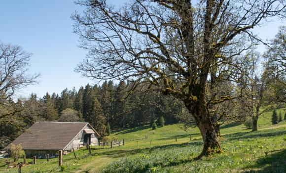
<svg viewBox="0 0 286 173"><path fill-rule="evenodd" d="M279 111L284 117L284 111ZM106 146L92 154L78 150L77 159L69 153L63 157L63 167L58 166L58 158L48 163L38 159L36 165L22 167L22 173L286 173L286 121L271 125L271 115L268 112L259 118L255 132L242 124L223 125L224 152L201 160L195 160L203 147L197 128L184 131L175 124L151 130L143 126L110 135L125 139L124 146ZM7 169L5 160L0 159L0 173L18 173L16 168Z"/></svg>

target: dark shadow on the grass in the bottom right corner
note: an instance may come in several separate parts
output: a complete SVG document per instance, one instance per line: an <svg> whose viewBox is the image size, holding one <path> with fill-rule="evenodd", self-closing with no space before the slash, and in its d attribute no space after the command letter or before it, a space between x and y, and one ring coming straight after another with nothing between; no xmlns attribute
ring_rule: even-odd
<svg viewBox="0 0 286 173"><path fill-rule="evenodd" d="M244 173L286 173L286 149L274 150L267 157L260 158L255 165L246 167Z"/></svg>

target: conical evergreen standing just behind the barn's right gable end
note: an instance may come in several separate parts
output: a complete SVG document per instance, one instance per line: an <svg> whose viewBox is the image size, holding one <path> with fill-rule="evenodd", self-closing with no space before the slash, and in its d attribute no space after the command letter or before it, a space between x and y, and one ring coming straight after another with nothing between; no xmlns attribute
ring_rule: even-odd
<svg viewBox="0 0 286 173"><path fill-rule="evenodd" d="M92 106L93 110L91 113L87 114L87 120L91 124L91 126L101 135L101 137L104 137L107 135L106 119L103 114L101 104L97 100L97 98L94 99Z"/></svg>

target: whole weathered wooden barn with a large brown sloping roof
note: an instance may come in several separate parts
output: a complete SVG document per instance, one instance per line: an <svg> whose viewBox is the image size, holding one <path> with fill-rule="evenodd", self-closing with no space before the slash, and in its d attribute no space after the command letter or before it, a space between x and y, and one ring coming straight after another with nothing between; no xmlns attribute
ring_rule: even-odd
<svg viewBox="0 0 286 173"><path fill-rule="evenodd" d="M12 143L21 144L26 157L38 159L58 156L78 149L83 145L98 145L100 135L88 123L77 122L36 122ZM9 145L4 148L9 150Z"/></svg>

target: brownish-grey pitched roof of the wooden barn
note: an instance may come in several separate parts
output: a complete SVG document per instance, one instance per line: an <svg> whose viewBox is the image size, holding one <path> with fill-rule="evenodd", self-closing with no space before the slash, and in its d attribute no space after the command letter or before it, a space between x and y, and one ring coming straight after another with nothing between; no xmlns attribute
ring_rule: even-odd
<svg viewBox="0 0 286 173"><path fill-rule="evenodd" d="M21 143L23 150L63 150L87 125L77 122L36 122L12 143ZM94 133L100 136L96 130ZM9 149L9 145L4 149Z"/></svg>

